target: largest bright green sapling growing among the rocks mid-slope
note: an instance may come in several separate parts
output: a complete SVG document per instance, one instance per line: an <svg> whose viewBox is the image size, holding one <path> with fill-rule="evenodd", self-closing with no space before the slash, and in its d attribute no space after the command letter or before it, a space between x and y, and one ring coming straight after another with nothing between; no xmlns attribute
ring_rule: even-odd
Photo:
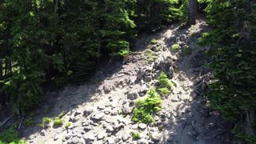
<svg viewBox="0 0 256 144"><path fill-rule="evenodd" d="M156 91L151 89L147 94L146 99L136 102L132 121L149 124L154 122L152 114L155 114L161 110L162 100Z"/></svg>

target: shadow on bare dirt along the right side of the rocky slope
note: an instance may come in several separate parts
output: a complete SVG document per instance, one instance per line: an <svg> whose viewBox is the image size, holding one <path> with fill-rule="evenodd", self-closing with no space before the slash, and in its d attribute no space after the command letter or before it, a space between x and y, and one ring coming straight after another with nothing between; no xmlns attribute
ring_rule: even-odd
<svg viewBox="0 0 256 144"><path fill-rule="evenodd" d="M170 53L178 55L176 72L180 74L178 77L189 79L191 91L186 91L187 87L183 88L185 94L190 96L186 99L180 99L183 102L176 107L173 118L170 118L171 132L170 134L163 134L164 142L181 144L237 143L234 141L234 135L230 133L232 124L217 112L211 111L205 97L207 83L213 80L212 70L205 66L210 61L206 57L206 50L209 50L210 47L198 47L197 42L198 38L202 36L202 32L209 31L210 27L202 19L198 19L197 22L200 24L195 25L195 34L191 34L193 31L191 27L186 27L182 30L174 30L172 37L165 38L168 47L182 41L179 43L181 50L178 52L170 50ZM185 47L190 47L192 53L182 55L182 49ZM182 78L180 81L182 82ZM182 97L181 94L184 93L172 96L180 95Z"/></svg>

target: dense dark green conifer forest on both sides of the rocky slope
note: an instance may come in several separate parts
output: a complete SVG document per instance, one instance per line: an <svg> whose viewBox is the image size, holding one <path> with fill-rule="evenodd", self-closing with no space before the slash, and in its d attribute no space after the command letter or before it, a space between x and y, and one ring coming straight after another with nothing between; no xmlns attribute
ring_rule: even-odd
<svg viewBox="0 0 256 144"><path fill-rule="evenodd" d="M26 114L42 101L46 82L85 82L100 63L122 58L138 34L174 22L195 23L198 2L213 27L199 44L211 46L216 82L207 98L255 142L255 0L2 0L0 101Z"/></svg>

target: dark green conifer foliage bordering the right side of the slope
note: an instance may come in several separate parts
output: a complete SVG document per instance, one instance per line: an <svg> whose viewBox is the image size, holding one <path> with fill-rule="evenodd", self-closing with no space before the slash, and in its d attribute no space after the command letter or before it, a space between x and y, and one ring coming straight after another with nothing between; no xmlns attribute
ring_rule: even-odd
<svg viewBox="0 0 256 144"><path fill-rule="evenodd" d="M218 81L210 84L206 95L212 109L230 121L242 122L248 111L256 110L256 2L207 2L207 18L214 30L203 34L199 44L213 47L207 54ZM246 142L255 141L253 135L246 134L246 129L243 126L234 133Z"/></svg>

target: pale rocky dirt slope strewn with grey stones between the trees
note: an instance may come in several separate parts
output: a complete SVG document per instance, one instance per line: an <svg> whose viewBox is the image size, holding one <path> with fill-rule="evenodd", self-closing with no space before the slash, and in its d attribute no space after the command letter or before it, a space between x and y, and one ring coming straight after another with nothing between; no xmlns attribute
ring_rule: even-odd
<svg viewBox="0 0 256 144"><path fill-rule="evenodd" d="M211 78L204 66L209 48L196 42L207 30L206 22L198 20L190 29L170 26L157 34L142 34L127 65L108 66L88 84L48 94L49 102L36 114L37 125L24 129L24 138L35 144L231 143L226 122L210 112L204 98ZM151 45L151 38L158 44ZM171 50L176 43L180 49ZM173 77L175 87L163 98L162 110L154 116L156 124L132 122L134 102L146 96L162 70ZM54 118L62 111L64 125L71 123L68 129L54 127L53 122L44 130L38 126L42 117ZM131 132L140 133L141 138L133 140Z"/></svg>

